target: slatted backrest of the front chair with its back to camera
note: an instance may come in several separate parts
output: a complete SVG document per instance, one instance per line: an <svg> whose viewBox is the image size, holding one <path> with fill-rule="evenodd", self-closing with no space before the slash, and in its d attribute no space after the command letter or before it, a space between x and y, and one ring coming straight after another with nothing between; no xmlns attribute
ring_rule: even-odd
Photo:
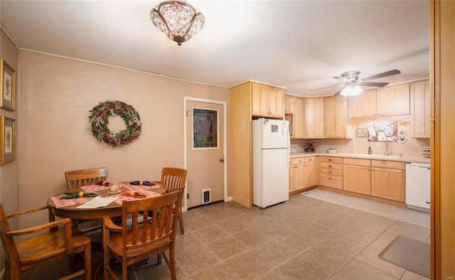
<svg viewBox="0 0 455 280"><path fill-rule="evenodd" d="M122 255L139 249L140 252L154 252L162 247L170 247L176 239L178 209L181 207L180 191L160 195L155 198L124 201L122 204ZM132 224L127 226L127 215L132 215ZM141 214L141 215L139 215ZM148 217L151 220L139 217ZM129 216L128 216L129 217ZM132 236L132 242L127 242ZM130 240L131 241L131 240ZM156 254L156 253L155 253Z"/></svg>

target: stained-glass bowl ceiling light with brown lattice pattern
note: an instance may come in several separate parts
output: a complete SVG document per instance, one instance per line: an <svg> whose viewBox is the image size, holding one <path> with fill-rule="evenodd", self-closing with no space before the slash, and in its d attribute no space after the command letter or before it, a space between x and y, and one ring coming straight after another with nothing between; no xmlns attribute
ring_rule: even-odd
<svg viewBox="0 0 455 280"><path fill-rule="evenodd" d="M151 22L178 45L191 39L204 26L204 15L183 1L164 1L150 11Z"/></svg>

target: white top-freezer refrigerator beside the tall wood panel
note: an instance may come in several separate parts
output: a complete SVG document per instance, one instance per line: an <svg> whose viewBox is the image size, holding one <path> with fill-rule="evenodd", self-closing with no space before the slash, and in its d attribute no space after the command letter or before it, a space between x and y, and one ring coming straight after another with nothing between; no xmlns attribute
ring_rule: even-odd
<svg viewBox="0 0 455 280"><path fill-rule="evenodd" d="M252 121L253 204L259 208L289 200L289 122Z"/></svg>

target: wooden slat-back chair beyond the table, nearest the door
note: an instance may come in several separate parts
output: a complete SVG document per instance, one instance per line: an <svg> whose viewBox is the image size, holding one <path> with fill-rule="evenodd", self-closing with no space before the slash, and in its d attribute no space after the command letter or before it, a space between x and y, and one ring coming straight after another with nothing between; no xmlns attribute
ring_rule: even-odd
<svg viewBox="0 0 455 280"><path fill-rule="evenodd" d="M183 195L183 189L185 189L186 183L186 173L186 169L183 168L164 167L161 171L161 181L159 181L159 183L167 188L168 193L182 190L181 195ZM178 211L178 226L180 227L181 234L185 234L181 209Z"/></svg>

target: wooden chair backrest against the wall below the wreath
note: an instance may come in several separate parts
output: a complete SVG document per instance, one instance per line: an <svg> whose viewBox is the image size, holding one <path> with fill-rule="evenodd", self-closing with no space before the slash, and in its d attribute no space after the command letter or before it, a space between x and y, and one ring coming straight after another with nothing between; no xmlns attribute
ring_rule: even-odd
<svg viewBox="0 0 455 280"><path fill-rule="evenodd" d="M83 170L66 171L65 179L68 190L80 188L82 185L95 185L98 181L105 181L107 168L91 168Z"/></svg>

